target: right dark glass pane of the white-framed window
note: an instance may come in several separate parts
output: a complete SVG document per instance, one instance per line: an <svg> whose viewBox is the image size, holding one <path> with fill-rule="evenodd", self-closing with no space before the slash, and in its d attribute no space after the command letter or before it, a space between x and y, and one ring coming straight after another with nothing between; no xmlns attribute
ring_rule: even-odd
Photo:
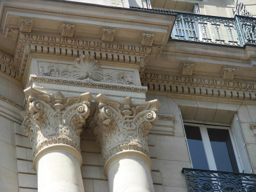
<svg viewBox="0 0 256 192"><path fill-rule="evenodd" d="M223 172L239 172L228 130L207 128L207 131L217 170Z"/></svg>

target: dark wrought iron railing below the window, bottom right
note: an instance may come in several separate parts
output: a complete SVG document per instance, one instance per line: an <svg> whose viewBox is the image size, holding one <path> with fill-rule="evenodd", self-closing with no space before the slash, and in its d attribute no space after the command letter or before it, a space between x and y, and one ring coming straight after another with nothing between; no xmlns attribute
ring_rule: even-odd
<svg viewBox="0 0 256 192"><path fill-rule="evenodd" d="M183 168L188 192L256 192L256 175Z"/></svg>

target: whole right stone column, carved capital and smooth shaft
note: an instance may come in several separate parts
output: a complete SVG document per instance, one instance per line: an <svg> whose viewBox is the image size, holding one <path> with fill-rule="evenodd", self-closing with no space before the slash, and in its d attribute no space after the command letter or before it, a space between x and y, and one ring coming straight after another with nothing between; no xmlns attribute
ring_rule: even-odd
<svg viewBox="0 0 256 192"><path fill-rule="evenodd" d="M104 172L110 192L153 192L148 132L157 121L157 100L135 104L104 95L95 98L99 113L93 128L102 147Z"/></svg>

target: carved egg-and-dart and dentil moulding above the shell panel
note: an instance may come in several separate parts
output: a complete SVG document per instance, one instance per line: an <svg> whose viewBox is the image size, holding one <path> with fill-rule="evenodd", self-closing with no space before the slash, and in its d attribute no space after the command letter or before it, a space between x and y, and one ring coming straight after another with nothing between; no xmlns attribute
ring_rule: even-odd
<svg viewBox="0 0 256 192"><path fill-rule="evenodd" d="M4 67L4 70L1 68L1 72L21 81L20 77L24 74L24 68L26 68L30 53L76 58L80 54L86 54L84 50L90 50L90 54L94 54L96 60L139 65L141 58L150 54L151 47L19 33L13 58L0 53L0 64L10 67L8 70Z"/></svg>

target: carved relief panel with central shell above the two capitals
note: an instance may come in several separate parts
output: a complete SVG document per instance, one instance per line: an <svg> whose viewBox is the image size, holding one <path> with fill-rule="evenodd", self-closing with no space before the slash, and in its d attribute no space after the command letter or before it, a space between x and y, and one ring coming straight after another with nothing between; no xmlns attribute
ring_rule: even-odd
<svg viewBox="0 0 256 192"><path fill-rule="evenodd" d="M74 61L74 65L58 65L54 63L38 63L41 76L61 77L67 79L80 79L101 81L105 83L136 84L134 82L134 72L124 70L113 70L110 68L100 68L99 61L90 54L80 55Z"/></svg>

